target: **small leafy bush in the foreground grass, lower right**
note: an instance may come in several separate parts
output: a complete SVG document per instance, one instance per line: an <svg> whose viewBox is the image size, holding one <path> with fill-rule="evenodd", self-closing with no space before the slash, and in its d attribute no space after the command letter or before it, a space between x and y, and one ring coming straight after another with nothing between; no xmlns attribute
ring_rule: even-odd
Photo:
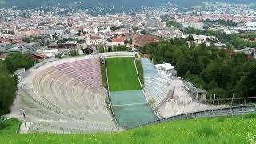
<svg viewBox="0 0 256 144"><path fill-rule="evenodd" d="M197 133L199 136L212 136L218 134L210 123L203 124L201 127L199 127L197 129Z"/></svg>

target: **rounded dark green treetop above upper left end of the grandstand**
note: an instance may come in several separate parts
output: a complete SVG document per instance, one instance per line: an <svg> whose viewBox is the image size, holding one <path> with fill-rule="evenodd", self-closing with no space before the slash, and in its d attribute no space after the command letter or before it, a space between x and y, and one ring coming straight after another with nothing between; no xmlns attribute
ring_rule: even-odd
<svg viewBox="0 0 256 144"><path fill-rule="evenodd" d="M22 53L13 53L10 54L6 60L6 68L11 73L14 73L18 68L29 69L34 65L32 58L30 58L30 54L22 54Z"/></svg>

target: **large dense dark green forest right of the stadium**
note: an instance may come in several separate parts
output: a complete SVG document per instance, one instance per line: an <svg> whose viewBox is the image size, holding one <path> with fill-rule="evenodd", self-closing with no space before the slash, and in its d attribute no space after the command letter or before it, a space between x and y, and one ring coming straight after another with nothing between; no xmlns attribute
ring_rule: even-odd
<svg viewBox="0 0 256 144"><path fill-rule="evenodd" d="M243 53L230 55L214 46L187 46L185 39L152 43L141 48L154 63L168 62L178 76L218 98L256 96L256 60Z"/></svg>

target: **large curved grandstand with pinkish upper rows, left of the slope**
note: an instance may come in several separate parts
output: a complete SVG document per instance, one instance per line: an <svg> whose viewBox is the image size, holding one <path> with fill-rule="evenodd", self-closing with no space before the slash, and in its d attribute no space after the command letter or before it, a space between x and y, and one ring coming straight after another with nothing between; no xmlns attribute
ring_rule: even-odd
<svg viewBox="0 0 256 144"><path fill-rule="evenodd" d="M31 122L27 132L121 130L106 108L99 58L67 60L30 69L22 79L18 94Z"/></svg>

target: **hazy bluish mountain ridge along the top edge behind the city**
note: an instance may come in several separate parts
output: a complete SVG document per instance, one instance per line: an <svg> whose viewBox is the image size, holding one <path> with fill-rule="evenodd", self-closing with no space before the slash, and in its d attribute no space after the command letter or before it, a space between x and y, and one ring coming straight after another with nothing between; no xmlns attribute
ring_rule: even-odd
<svg viewBox="0 0 256 144"><path fill-rule="evenodd" d="M74 2L81 2L79 6L83 8L90 7L126 7L136 8L142 6L159 6L170 3L176 3L180 6L194 6L199 2L235 2L252 3L255 0L0 0L0 7L32 8L37 6L67 6Z"/></svg>

